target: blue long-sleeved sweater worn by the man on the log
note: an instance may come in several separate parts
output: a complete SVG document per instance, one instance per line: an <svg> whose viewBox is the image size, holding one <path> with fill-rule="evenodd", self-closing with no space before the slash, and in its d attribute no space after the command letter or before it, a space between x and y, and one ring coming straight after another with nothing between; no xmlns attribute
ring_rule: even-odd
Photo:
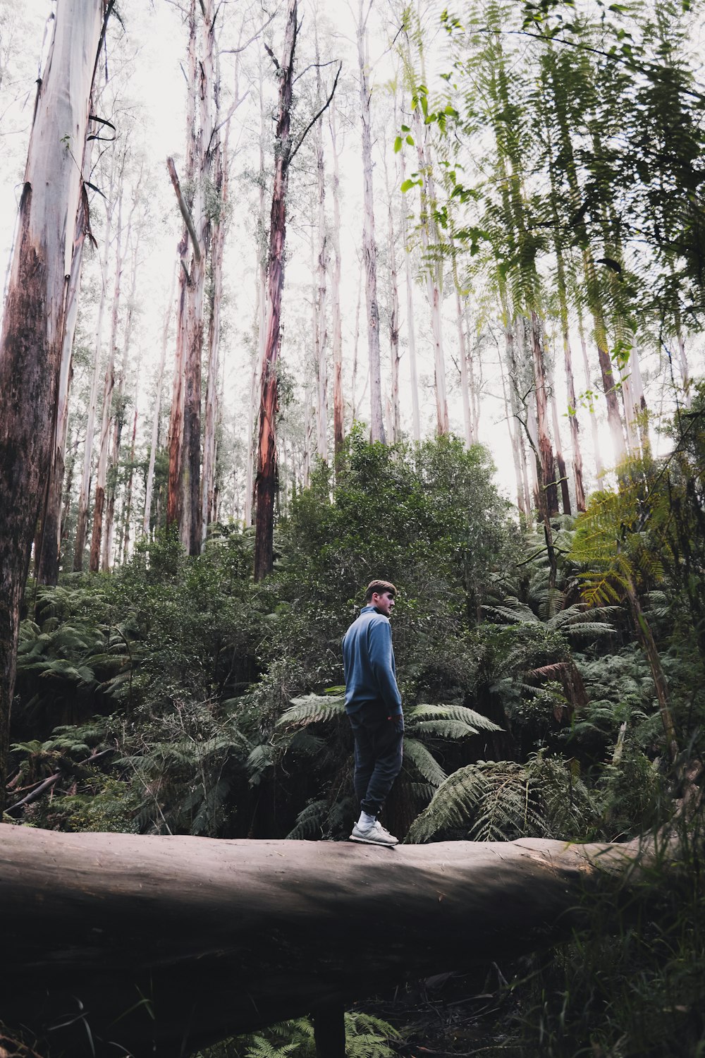
<svg viewBox="0 0 705 1058"><path fill-rule="evenodd" d="M346 710L357 712L367 701L379 701L393 716L402 712L389 618L374 606L363 606L342 638Z"/></svg>

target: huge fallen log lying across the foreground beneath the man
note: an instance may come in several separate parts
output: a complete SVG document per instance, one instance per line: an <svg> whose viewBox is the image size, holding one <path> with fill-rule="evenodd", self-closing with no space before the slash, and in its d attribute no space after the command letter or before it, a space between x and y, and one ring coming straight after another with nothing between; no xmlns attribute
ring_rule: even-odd
<svg viewBox="0 0 705 1058"><path fill-rule="evenodd" d="M0 1022L52 1058L185 1056L545 947L586 892L655 857L653 841L390 850L0 825Z"/></svg>

